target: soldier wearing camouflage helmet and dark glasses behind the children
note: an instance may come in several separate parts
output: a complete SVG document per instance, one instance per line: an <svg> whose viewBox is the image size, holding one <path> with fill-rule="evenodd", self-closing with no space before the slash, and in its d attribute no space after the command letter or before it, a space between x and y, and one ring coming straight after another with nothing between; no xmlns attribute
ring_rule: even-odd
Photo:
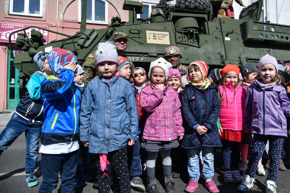
<svg viewBox="0 0 290 193"><path fill-rule="evenodd" d="M180 58L183 58L180 49L176 46L170 46L164 51L164 58L172 64L172 68L177 70L187 70L188 66L180 64Z"/></svg>

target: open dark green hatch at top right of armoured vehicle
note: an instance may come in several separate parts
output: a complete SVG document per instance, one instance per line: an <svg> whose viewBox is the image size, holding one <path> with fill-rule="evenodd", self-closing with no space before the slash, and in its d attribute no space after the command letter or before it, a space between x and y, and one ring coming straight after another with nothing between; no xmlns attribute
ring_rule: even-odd
<svg viewBox="0 0 290 193"><path fill-rule="evenodd" d="M240 13L239 19L259 21L262 13L262 0L258 0L248 6L247 9L243 9Z"/></svg>

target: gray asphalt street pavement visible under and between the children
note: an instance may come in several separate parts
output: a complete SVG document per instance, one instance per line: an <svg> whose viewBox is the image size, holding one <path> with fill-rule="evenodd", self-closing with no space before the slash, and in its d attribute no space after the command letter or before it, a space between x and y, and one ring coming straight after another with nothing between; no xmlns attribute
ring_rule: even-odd
<svg viewBox="0 0 290 193"><path fill-rule="evenodd" d="M0 111L0 132L3 131L6 124L10 120L14 110L2 110ZM26 157L26 142L25 142L25 134L22 133L14 143L5 150L0 156L0 192L5 193L22 193L22 192L38 192L40 183L42 181L42 172L40 167L41 155L38 157L37 162L37 170L35 174L39 180L39 185L35 187L28 187L25 181L25 157ZM223 179L223 172L221 169L222 166L222 157L220 150L217 151L215 156L215 175L213 180L215 181L217 187L220 192L224 193L236 193L238 188L238 183L225 183ZM263 162L264 163L264 162ZM187 166L180 166L180 178L173 179L175 183L176 192L184 192L186 184L189 182L189 176L187 173ZM290 164L286 166L286 171L278 172L278 179L276 181L277 192L278 193L288 193L290 192ZM95 166L93 165L90 168L91 172L95 173ZM266 171L266 176L268 170ZM254 187L251 189L251 193L260 193L266 192L264 182L266 180L266 176L256 176L256 182L254 183ZM142 177L144 183L146 183L146 177ZM157 179L157 187L160 193L165 193L163 187L163 179ZM201 178L199 180L199 187L196 189L196 193L208 192L204 188L205 179ZM53 192L61 192L61 183L59 182L55 190ZM92 187L92 182L88 182L87 185L83 188L75 188L76 193L93 193L98 192L97 189ZM113 190L111 190L113 192ZM133 190L133 193L137 193L137 191Z"/></svg>

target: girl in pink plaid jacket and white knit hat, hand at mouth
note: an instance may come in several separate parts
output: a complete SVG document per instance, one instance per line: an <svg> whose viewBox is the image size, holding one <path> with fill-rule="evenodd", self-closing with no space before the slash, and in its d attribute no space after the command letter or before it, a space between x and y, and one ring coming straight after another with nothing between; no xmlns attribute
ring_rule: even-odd
<svg viewBox="0 0 290 193"><path fill-rule="evenodd" d="M141 92L141 107L146 111L146 124L141 146L148 151L146 171L147 192L158 192L155 182L155 162L160 151L164 170L166 192L175 192L172 181L170 151L179 145L184 129L182 127L181 103L175 90L166 82L172 65L160 57L151 62L148 86Z"/></svg>

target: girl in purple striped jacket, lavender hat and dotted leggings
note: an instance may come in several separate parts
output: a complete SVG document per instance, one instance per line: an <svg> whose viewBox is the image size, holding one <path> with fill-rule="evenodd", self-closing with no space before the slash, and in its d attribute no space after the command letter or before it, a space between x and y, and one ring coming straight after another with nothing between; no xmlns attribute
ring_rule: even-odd
<svg viewBox="0 0 290 193"><path fill-rule="evenodd" d="M266 54L259 61L258 75L248 87L244 108L244 129L253 133L252 151L248 169L238 187L240 192L249 192L253 187L259 159L269 140L269 173L266 192L276 193L276 179L280 165L280 154L284 138L287 137L287 121L290 102L287 90L280 84L278 63L275 57ZM252 118L253 115L253 118Z"/></svg>

